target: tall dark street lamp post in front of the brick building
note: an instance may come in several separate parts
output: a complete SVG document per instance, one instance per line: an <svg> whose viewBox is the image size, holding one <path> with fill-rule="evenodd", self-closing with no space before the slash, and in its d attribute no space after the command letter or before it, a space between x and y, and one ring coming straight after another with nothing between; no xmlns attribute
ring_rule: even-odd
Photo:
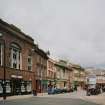
<svg viewBox="0 0 105 105"><path fill-rule="evenodd" d="M5 40L2 39L3 34L0 33L0 40L3 42L4 50L3 50L3 69L4 69L4 80L3 80L3 100L6 100L6 56L5 56Z"/></svg>

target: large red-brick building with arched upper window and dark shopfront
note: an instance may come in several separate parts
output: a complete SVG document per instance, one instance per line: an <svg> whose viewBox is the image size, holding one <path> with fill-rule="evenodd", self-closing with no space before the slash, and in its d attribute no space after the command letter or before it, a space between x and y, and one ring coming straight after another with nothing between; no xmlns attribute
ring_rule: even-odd
<svg viewBox="0 0 105 105"><path fill-rule="evenodd" d="M35 90L34 40L2 20L0 35L0 95L3 94L4 67L7 95L32 93Z"/></svg>

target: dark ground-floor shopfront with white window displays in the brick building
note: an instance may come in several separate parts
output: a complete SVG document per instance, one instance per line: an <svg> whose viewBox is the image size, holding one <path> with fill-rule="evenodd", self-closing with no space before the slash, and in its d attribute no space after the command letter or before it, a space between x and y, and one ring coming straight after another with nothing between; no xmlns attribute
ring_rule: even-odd
<svg viewBox="0 0 105 105"><path fill-rule="evenodd" d="M6 80L6 95L25 95L32 93L32 81L13 78ZM0 80L0 96L3 96L3 81Z"/></svg>

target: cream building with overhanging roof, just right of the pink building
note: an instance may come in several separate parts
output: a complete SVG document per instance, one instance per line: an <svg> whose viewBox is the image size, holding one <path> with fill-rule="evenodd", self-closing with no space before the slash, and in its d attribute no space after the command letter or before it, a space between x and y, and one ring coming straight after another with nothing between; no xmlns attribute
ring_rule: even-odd
<svg viewBox="0 0 105 105"><path fill-rule="evenodd" d="M56 86L57 88L71 88L72 69L64 60L59 60L56 66Z"/></svg>

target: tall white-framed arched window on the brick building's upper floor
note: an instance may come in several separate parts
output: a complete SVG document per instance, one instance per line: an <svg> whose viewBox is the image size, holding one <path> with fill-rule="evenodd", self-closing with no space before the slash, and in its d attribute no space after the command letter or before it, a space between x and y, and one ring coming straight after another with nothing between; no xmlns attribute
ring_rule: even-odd
<svg viewBox="0 0 105 105"><path fill-rule="evenodd" d="M16 43L11 44L11 68L21 68L21 48Z"/></svg>

